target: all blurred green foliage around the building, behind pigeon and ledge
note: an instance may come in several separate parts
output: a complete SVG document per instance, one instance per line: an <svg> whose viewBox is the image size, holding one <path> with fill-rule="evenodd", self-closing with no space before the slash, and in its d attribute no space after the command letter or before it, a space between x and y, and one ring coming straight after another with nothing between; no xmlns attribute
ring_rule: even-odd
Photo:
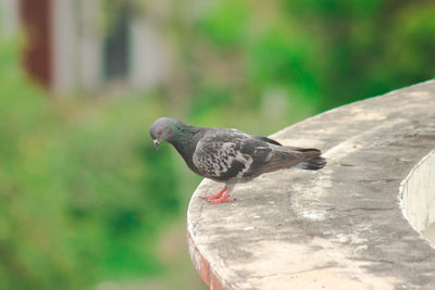
<svg viewBox="0 0 435 290"><path fill-rule="evenodd" d="M104 2L115 17L122 1ZM0 289L164 270L158 235L199 178L169 146L156 153L158 116L266 135L435 76L432 1L169 2L159 23L179 68L153 93L55 101L0 38Z"/></svg>

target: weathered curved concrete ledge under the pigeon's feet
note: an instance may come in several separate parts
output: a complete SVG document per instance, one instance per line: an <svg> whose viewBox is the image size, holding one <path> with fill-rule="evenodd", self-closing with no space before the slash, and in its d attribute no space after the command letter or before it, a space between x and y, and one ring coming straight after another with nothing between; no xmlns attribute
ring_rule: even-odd
<svg viewBox="0 0 435 290"><path fill-rule="evenodd" d="M211 289L433 289L435 250L417 230L435 219L434 80L273 137L322 149L328 165L263 175L237 186L229 204L200 200L222 186L200 184L188 209L188 241Z"/></svg>

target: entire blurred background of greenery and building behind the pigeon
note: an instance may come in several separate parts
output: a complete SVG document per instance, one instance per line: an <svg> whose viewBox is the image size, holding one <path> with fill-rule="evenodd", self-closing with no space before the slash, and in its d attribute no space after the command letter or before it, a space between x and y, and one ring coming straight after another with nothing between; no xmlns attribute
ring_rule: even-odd
<svg viewBox="0 0 435 290"><path fill-rule="evenodd" d="M0 289L206 289L159 116L270 135L435 76L424 0L0 0ZM403 108L406 110L406 108Z"/></svg>

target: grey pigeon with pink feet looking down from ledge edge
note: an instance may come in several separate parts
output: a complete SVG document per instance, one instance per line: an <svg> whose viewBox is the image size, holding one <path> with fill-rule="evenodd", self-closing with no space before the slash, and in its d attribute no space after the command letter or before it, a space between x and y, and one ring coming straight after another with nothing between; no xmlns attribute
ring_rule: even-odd
<svg viewBox="0 0 435 290"><path fill-rule="evenodd" d="M318 171L326 164L315 148L283 146L263 136L237 129L197 127L171 117L160 117L150 127L156 149L162 141L171 143L196 174L225 187L216 194L204 196L209 203L232 202L234 186L264 173L299 167Z"/></svg>

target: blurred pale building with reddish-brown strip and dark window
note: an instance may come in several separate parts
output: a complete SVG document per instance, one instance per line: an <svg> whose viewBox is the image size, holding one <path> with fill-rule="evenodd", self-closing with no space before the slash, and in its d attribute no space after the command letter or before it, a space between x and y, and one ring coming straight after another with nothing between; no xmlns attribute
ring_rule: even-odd
<svg viewBox="0 0 435 290"><path fill-rule="evenodd" d="M171 52L157 20L125 5L104 29L102 2L0 0L2 33L25 31L23 66L57 96L98 93L114 83L138 90L158 85Z"/></svg>

